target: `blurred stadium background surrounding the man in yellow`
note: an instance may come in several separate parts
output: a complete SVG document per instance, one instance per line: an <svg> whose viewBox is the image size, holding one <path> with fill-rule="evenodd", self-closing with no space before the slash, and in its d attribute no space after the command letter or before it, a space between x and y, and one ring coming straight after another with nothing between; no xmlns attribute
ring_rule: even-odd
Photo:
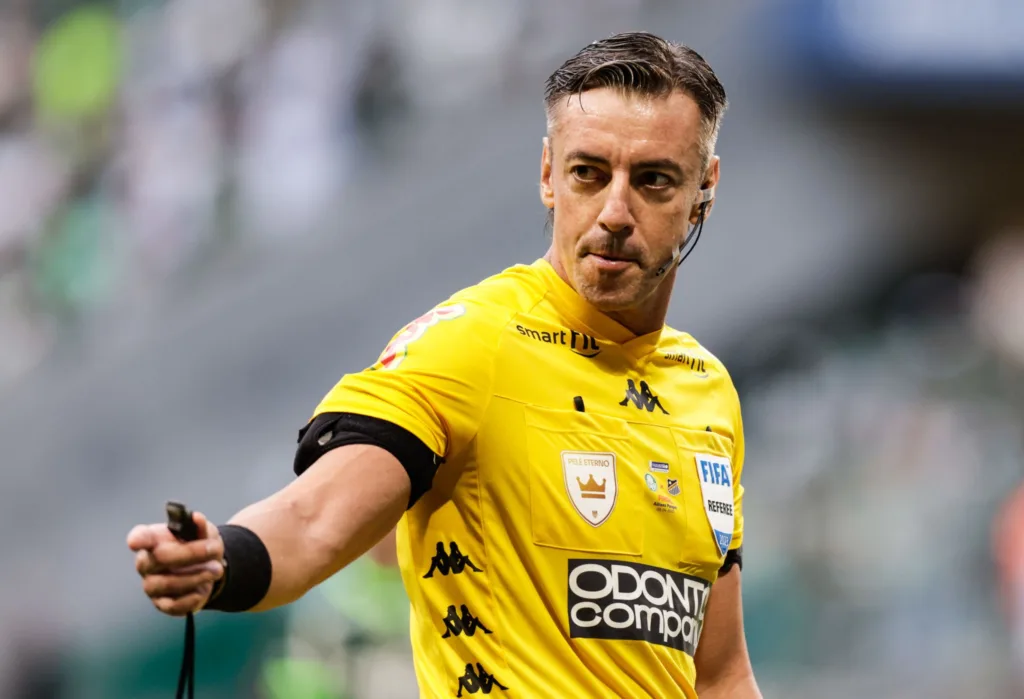
<svg viewBox="0 0 1024 699"><path fill-rule="evenodd" d="M543 254L543 80L631 29L732 103L670 320L744 399L766 696L1021 695L1019 0L4 0L0 696L171 696L128 528L283 485L341 374ZM200 696L414 696L391 563L202 615Z"/></svg>

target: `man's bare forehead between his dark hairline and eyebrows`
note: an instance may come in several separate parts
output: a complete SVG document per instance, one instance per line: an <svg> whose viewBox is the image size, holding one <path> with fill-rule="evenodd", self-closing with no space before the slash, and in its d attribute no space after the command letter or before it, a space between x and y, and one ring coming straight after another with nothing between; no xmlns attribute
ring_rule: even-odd
<svg viewBox="0 0 1024 699"><path fill-rule="evenodd" d="M562 152L585 150L608 160L699 159L700 110L676 90L665 97L588 90L555 104L551 136Z"/></svg>

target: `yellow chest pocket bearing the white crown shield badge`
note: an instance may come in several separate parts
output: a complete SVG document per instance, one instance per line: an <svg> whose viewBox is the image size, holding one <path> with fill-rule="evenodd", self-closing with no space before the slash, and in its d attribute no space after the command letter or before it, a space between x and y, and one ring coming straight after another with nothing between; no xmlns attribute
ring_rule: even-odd
<svg viewBox="0 0 1024 699"><path fill-rule="evenodd" d="M525 407L534 543L640 556L642 494L625 421Z"/></svg>

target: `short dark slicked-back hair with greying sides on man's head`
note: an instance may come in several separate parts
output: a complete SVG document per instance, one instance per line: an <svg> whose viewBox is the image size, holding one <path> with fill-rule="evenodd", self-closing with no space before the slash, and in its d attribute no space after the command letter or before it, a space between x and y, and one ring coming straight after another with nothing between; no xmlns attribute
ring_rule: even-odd
<svg viewBox="0 0 1024 699"><path fill-rule="evenodd" d="M544 93L548 121L560 100L602 87L648 97L666 97L675 90L688 94L700 110L701 158L708 166L728 100L715 71L699 53L646 32L595 41L548 78Z"/></svg>

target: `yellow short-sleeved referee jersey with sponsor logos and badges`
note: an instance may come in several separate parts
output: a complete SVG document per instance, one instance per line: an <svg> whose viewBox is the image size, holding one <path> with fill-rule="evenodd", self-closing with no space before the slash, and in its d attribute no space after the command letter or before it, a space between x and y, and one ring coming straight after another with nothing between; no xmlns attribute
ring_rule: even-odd
<svg viewBox="0 0 1024 699"><path fill-rule="evenodd" d="M422 697L696 697L743 434L693 338L635 336L540 260L407 325L325 412L444 460L398 525Z"/></svg>

